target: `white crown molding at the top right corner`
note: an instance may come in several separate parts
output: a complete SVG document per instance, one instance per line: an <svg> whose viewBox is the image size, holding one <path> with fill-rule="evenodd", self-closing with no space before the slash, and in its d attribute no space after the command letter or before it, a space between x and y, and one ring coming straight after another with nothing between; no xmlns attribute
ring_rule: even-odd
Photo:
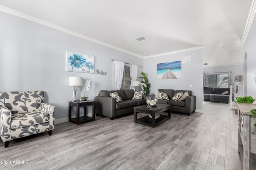
<svg viewBox="0 0 256 170"><path fill-rule="evenodd" d="M252 25L252 21L253 21L255 12L256 12L256 1L252 0L252 4L251 4L251 7L250 7L250 11L249 11L248 18L247 18L247 21L246 21L246 25L245 25L245 28L244 28L244 34L243 34L242 41L241 41L242 46L244 46L246 38L247 38L248 33L250 31L250 27Z"/></svg>

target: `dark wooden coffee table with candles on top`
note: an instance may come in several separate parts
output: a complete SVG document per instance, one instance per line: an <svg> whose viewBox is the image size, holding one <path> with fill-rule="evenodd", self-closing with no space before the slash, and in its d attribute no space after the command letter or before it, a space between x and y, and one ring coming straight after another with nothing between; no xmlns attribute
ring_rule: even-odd
<svg viewBox="0 0 256 170"><path fill-rule="evenodd" d="M171 118L171 105L169 104L157 104L157 106L151 108L146 108L146 106L147 105L142 105L133 108L134 123L141 123L144 125L155 127L156 125L159 125L160 123ZM162 113L164 111L168 111L168 115L160 114L160 117L158 119L155 119L155 115L157 113ZM147 115L137 119L137 113L145 113ZM148 116L148 114L152 115L152 119Z"/></svg>

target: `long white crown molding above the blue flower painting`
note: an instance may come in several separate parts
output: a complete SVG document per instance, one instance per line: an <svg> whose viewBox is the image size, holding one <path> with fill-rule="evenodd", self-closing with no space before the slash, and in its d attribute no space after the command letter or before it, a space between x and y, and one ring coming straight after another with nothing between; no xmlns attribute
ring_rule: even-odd
<svg viewBox="0 0 256 170"><path fill-rule="evenodd" d="M44 20L40 20L40 19L38 19L38 18L32 17L32 16L27 15L27 14L24 14L24 13L22 13L22 12L18 12L18 11L16 11L16 10L12 10L12 9L7 8L7 7L5 7L5 6L1 6L1 5L0 5L0 11L6 12L6 13L8 13L8 14L12 14L12 15L14 15L14 16L18 16L18 17L20 17L20 18L24 18L24 19L26 19L26 20L30 20L30 21L39 23L39 24L41 24L41 25L45 25L45 26L50 27L50 28L53 28L53 29L57 29L57 30L59 30L59 31L62 31L62 32L65 32L65 33L74 35L74 36L76 36L76 37L80 37L80 38L82 38L82 39L86 39L86 40L88 40L88 41L92 41L92 42L94 42L94 43L97 43L97 44L100 44L100 45L104 45L104 46L106 46L106 47L110 47L110 48L112 48L112 49L116 49L116 50L118 50L118 51L122 51L122 52L124 52L124 53L128 53L128 54L130 54L130 55L134 55L134 56L136 56L136 57L140 57L140 58L143 59L143 56L141 56L141 55L132 53L132 52L130 52L130 51L127 51L127 50L124 50L124 49L121 49L121 48L118 48L118 47L116 47L116 46L114 46L114 45L110 45L110 44L108 44L108 43L104 43L104 42L102 42L102 41L98 41L98 40L93 39L93 38L91 38L91 37L87 37L87 36L85 36L85 35L82 35L82 34L77 33L77 32L75 32L75 31L71 31L71 30L66 29L66 28L64 28L64 27L60 27L60 26L55 25L55 24L52 24L52 23L50 23L50 22L47 22L47 21L44 21Z"/></svg>

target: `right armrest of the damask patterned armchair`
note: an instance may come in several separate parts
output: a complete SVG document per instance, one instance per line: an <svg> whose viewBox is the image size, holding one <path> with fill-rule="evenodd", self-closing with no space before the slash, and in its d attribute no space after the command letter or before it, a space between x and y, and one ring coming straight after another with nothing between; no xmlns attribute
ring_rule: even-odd
<svg viewBox="0 0 256 170"><path fill-rule="evenodd" d="M40 104L40 111L43 111L43 112L49 114L50 127L49 127L48 131L53 130L54 129L55 106L53 106L51 104L41 103Z"/></svg>

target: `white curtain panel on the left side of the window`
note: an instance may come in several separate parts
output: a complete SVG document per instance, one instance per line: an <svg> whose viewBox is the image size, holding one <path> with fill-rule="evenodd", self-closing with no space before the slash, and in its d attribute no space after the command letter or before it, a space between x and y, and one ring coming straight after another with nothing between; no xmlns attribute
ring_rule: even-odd
<svg viewBox="0 0 256 170"><path fill-rule="evenodd" d="M120 90L124 74L124 62L114 61L114 90Z"/></svg>

